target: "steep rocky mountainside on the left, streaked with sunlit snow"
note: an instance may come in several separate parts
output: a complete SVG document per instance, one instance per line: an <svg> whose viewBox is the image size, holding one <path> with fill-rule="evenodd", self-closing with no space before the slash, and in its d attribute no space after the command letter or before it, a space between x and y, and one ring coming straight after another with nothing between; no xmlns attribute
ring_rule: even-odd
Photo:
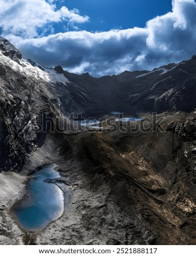
<svg viewBox="0 0 196 256"><path fill-rule="evenodd" d="M44 143L47 118L78 111L82 89L53 69L44 69L0 38L0 171L19 171L26 157ZM76 98L76 99L75 99ZM78 102L77 102L78 99ZM62 105L63 103L63 105ZM42 115L44 113L44 115Z"/></svg>

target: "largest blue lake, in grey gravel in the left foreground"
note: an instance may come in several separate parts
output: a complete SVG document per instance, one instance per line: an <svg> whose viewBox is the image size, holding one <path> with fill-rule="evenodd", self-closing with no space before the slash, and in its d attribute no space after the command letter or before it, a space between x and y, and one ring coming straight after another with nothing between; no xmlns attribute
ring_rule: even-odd
<svg viewBox="0 0 196 256"><path fill-rule="evenodd" d="M55 164L48 164L30 175L27 198L13 209L21 227L30 233L45 228L63 214L63 192L56 184L48 183L60 178L55 167Z"/></svg>

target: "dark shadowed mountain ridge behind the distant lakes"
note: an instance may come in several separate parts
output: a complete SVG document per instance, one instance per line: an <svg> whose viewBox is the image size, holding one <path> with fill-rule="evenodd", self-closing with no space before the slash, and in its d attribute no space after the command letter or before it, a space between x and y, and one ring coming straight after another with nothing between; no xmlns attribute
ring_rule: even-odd
<svg viewBox="0 0 196 256"><path fill-rule="evenodd" d="M89 74L64 74L78 84L93 100L95 113L117 110L127 114L185 111L196 107L196 57L179 64L169 64L153 71L134 71L118 76L94 78ZM95 108L95 109L94 109ZM93 111L89 114L93 114Z"/></svg>

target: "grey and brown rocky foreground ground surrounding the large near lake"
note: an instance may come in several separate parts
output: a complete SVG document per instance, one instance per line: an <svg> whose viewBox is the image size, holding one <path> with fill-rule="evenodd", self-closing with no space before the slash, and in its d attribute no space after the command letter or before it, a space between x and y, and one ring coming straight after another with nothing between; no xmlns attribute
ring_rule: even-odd
<svg viewBox="0 0 196 256"><path fill-rule="evenodd" d="M20 174L0 174L0 244L195 245L195 114L163 115L166 132L48 133ZM65 211L29 235L10 206L28 174L51 162Z"/></svg>

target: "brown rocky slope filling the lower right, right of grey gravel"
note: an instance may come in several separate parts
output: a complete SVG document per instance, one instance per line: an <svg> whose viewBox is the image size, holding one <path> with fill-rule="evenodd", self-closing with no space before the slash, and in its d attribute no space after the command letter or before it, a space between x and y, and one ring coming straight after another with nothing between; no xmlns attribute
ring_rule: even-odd
<svg viewBox="0 0 196 256"><path fill-rule="evenodd" d="M84 134L78 154L92 186L108 184L112 202L141 221L129 222L128 237L144 225L148 243L195 245L195 114L162 116L167 132Z"/></svg>

